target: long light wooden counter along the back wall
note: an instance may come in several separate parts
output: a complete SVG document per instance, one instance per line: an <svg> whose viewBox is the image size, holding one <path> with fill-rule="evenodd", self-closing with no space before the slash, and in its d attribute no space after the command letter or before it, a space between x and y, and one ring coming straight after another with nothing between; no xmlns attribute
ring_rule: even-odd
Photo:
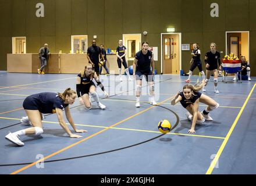
<svg viewBox="0 0 256 186"><path fill-rule="evenodd" d="M107 55L107 63L111 74L119 74L117 57L115 54ZM84 69L84 66L88 65L86 53L51 53L47 66L45 67L45 73L67 73L77 74ZM37 53L26 54L7 54L7 71L15 73L37 73L37 69L40 69L40 59ZM125 69L122 65L122 74ZM102 74L106 71L103 68Z"/></svg>

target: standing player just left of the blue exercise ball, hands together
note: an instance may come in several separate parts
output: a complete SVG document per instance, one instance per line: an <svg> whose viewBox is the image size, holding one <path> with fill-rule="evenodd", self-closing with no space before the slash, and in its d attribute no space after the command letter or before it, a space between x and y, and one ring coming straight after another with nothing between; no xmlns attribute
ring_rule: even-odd
<svg viewBox="0 0 256 186"><path fill-rule="evenodd" d="M118 48L116 48L116 56L118 56L117 60L118 60L120 81L123 81L122 80L122 75L121 75L122 64L123 64L123 67L125 67L125 71L126 71L127 77L129 78L129 81L133 81L133 79L131 79L131 77L130 77L129 70L128 70L128 67L127 67L127 62L126 62L126 59L125 59L126 47L123 46L123 41L122 40L119 40L119 46L118 46Z"/></svg>

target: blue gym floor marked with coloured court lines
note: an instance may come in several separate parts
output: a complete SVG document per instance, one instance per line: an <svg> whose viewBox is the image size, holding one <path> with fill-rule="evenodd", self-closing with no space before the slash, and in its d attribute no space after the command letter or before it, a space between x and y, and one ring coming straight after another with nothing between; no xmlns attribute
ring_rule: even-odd
<svg viewBox="0 0 256 186"><path fill-rule="evenodd" d="M27 126L22 103L38 92L76 90L76 74L29 74L0 71L0 174L256 174L255 80L227 83L219 77L219 94L213 77L207 94L220 104L211 112L214 121L197 125L180 105L170 105L170 97L182 90L186 76L155 76L156 101L148 101L143 79L141 107L135 107L134 81L119 82L118 76L101 76L110 97L97 92L106 110L86 110L78 99L70 105L77 128L88 130L83 138L69 138L56 115L45 115L44 134L20 138L18 147L5 140L9 131ZM193 76L195 84L198 76ZM200 104L200 111L205 105ZM66 118L65 118L66 119ZM173 130L163 135L158 122L167 119ZM71 126L69 126L72 128ZM44 158L44 163L37 160ZM211 162L214 160L214 163ZM212 169L214 168L214 169Z"/></svg>

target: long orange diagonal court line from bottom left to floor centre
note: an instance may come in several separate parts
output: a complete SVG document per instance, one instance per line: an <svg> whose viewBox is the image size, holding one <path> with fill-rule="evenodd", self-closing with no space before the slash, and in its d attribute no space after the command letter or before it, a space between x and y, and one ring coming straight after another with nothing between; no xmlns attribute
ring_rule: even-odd
<svg viewBox="0 0 256 186"><path fill-rule="evenodd" d="M165 100L162 101L161 103L166 102L166 101L168 101L169 99L170 99L170 98L165 99ZM74 144L72 144L72 145L69 145L69 146L67 146L66 148L63 148L63 149L61 149L61 150L59 150L59 151L57 151L57 152L54 152L54 153L52 153L51 155L48 155L48 156L46 156L45 158L42 158L42 159L40 159L40 160L37 160L36 162L31 163L31 164L29 164L29 165L23 167L22 169L16 170L16 171L14 171L14 172L12 172L12 173L10 173L10 174L17 174L17 173L20 173L21 171L26 170L26 169L28 169L29 167L34 166L34 165L37 164L37 163L40 163L40 162L42 162L42 161L44 161L44 160L46 160L46 159L48 159L48 158L51 158L52 156L55 156L56 154L61 153L61 152L65 151L66 149L71 148L72 146L75 146L75 145L77 145L77 144L80 144L81 142L86 141L86 140L88 140L88 139L94 137L95 135L98 135L98 134L100 134L100 133L103 133L104 131L109 130L109 128L112 128L112 127L114 127L114 126L117 126L118 124L123 123L123 122L125 122L125 121L127 121L127 120L129 120L129 119L131 119L131 118L133 118L133 117L135 117L135 116L138 116L138 115L140 115L141 113L144 113L144 112L146 112L147 110L150 110L150 109L152 109L152 108L154 108L154 106L151 106L150 108L141 110L140 112L138 112L138 113L136 113L136 114L134 114L134 115L132 115L132 116L130 116L130 117L127 117L126 119L124 119L124 120L122 120L122 121L119 121L118 123L115 123L115 124L113 124L112 126L110 126L110 127L108 127L108 128L104 128L103 130L98 131L97 133L94 133L94 134L88 136L87 138L84 138L83 140L80 140L80 141L78 141L78 142L76 142L76 143L74 143Z"/></svg>

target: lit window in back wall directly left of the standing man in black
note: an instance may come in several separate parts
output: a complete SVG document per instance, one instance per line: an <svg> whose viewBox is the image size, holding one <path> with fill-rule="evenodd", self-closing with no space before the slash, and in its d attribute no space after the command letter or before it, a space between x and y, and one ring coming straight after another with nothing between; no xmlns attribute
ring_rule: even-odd
<svg viewBox="0 0 256 186"><path fill-rule="evenodd" d="M71 36L71 52L70 53L86 53L87 52L87 35Z"/></svg>

